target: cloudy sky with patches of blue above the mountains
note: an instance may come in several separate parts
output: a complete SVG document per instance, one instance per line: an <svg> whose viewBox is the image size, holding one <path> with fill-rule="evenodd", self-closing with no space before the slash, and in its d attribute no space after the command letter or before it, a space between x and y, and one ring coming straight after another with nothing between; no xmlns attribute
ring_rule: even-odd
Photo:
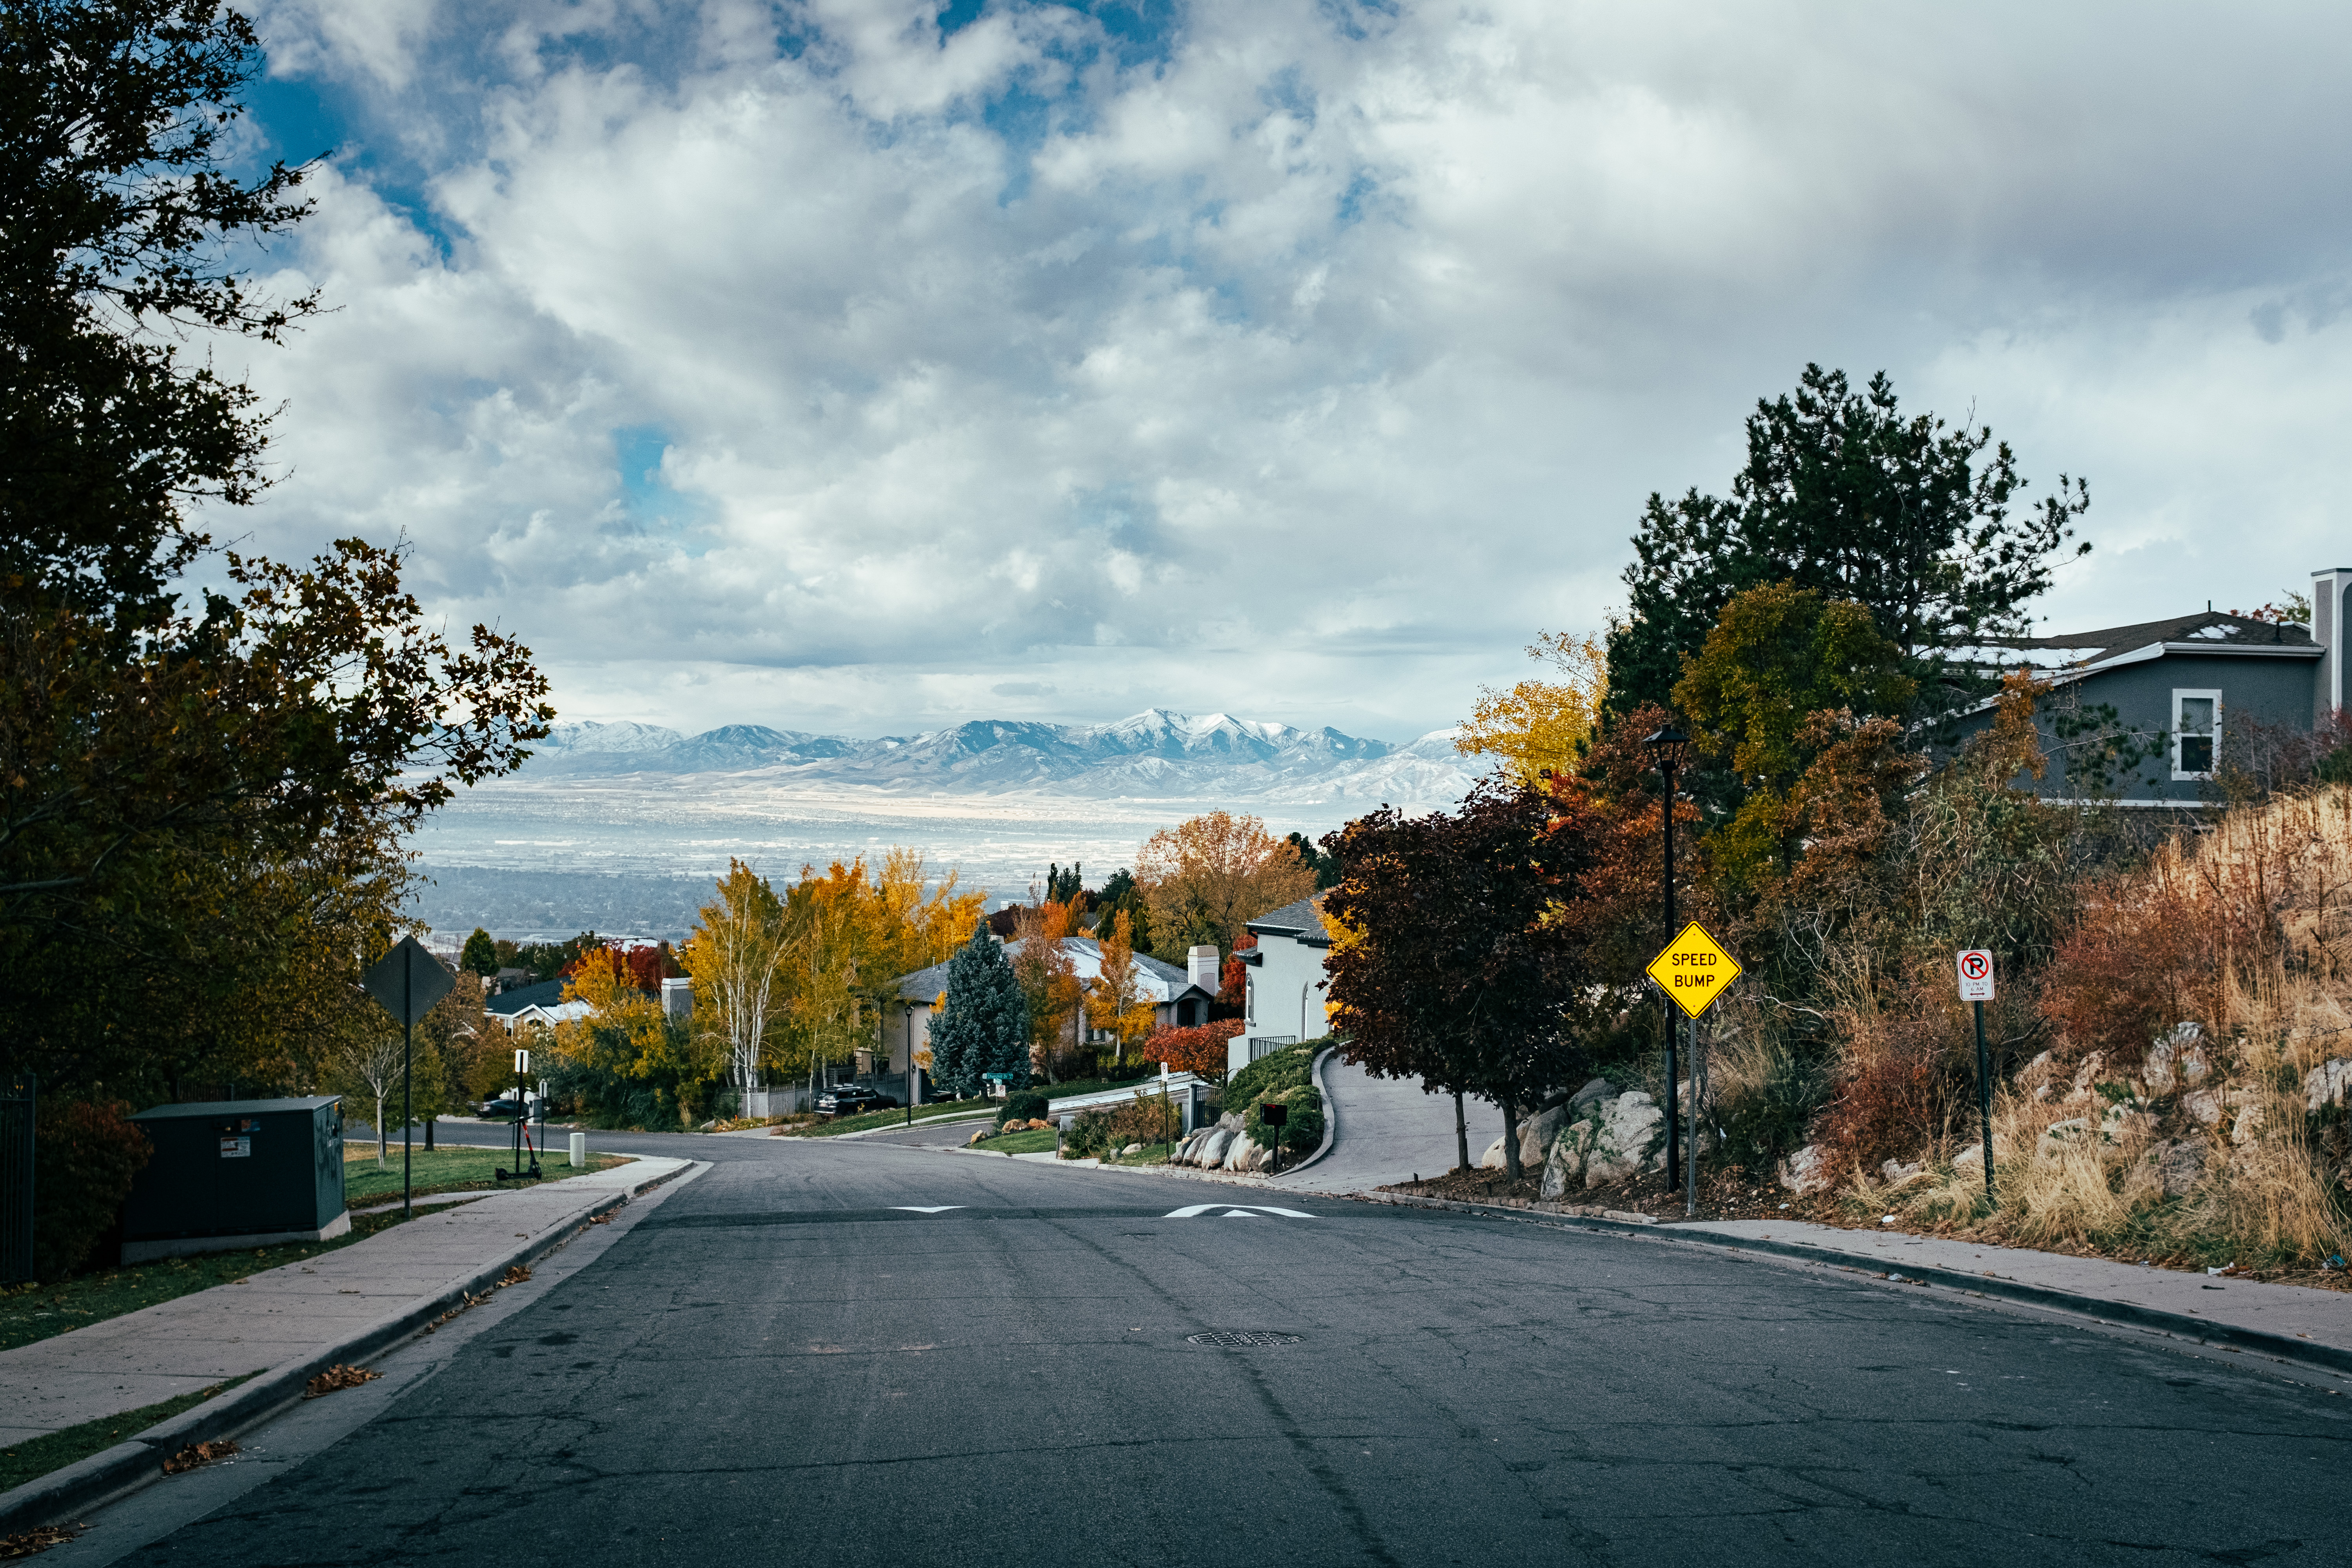
<svg viewBox="0 0 2352 1568"><path fill-rule="evenodd" d="M1806 364L2091 482L2053 623L2352 557L2343 7L263 0L278 555L564 717L1402 738Z"/></svg>

